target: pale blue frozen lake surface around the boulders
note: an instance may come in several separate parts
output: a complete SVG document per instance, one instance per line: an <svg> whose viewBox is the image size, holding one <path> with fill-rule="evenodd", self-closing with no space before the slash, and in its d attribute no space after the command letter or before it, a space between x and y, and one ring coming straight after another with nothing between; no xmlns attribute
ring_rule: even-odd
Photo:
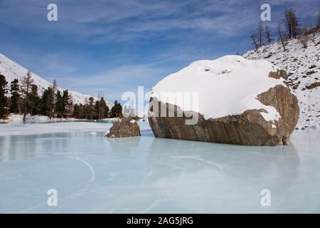
<svg viewBox="0 0 320 228"><path fill-rule="evenodd" d="M247 147L154 138L140 125L142 137L112 140L110 123L0 125L0 212L320 212L319 130Z"/></svg>

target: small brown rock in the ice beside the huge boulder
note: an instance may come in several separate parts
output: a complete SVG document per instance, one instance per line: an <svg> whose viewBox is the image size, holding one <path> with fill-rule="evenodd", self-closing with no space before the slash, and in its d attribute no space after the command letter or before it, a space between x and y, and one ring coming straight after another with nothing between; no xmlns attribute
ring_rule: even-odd
<svg viewBox="0 0 320 228"><path fill-rule="evenodd" d="M121 118L114 122L105 137L107 138L124 138L140 136L140 128L136 120L127 117Z"/></svg>

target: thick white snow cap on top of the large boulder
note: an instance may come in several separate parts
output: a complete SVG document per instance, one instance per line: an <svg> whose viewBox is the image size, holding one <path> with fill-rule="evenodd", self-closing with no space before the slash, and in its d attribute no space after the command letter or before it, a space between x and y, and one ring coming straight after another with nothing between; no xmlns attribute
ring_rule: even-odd
<svg viewBox="0 0 320 228"><path fill-rule="evenodd" d="M204 118L239 115L245 110L264 109L265 120L277 120L280 115L270 105L263 105L257 95L277 85L283 79L269 78L277 67L267 60L251 61L242 56L223 56L213 61L196 61L173 73L152 88L151 97L178 105L182 110L193 110ZM198 107L185 105L186 99L175 94L198 93Z"/></svg>

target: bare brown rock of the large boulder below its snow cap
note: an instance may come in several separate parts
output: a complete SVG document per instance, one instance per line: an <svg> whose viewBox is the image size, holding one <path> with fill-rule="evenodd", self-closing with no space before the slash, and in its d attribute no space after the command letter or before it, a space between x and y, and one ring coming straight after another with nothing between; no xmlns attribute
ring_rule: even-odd
<svg viewBox="0 0 320 228"><path fill-rule="evenodd" d="M272 72L266 75L266 77L268 76L276 79L281 78L281 80L287 78L285 71ZM265 107L275 108L280 115L279 118L266 120L264 114L268 112L265 108L247 109L239 115L225 115L220 118L204 118L203 113L193 112L193 115L198 115L198 122L186 125L186 120L191 118L190 112L182 110L178 105L163 103L157 97L151 96L149 124L154 135L158 138L257 146L274 146L283 142L286 145L299 118L299 105L296 96L283 83L257 94L255 99L259 100L262 105L267 105ZM166 113L172 112L174 116L155 115L154 110L158 111L157 109L159 109L159 113L161 113L161 109L164 111L164 108ZM178 115L178 113L183 113L183 115Z"/></svg>

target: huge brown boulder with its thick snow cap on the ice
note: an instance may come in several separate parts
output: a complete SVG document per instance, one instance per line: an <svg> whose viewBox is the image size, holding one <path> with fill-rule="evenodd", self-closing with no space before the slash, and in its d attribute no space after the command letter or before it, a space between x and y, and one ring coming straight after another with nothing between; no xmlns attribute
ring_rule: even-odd
<svg viewBox="0 0 320 228"><path fill-rule="evenodd" d="M299 118L297 98L287 88L286 78L266 60L224 56L196 61L152 88L151 129L159 138L285 143Z"/></svg>

